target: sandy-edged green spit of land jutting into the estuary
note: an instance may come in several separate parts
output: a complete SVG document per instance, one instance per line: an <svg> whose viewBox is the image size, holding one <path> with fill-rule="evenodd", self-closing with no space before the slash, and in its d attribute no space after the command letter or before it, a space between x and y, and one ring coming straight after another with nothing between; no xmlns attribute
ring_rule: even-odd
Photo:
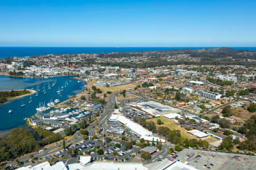
<svg viewBox="0 0 256 170"><path fill-rule="evenodd" d="M8 100L16 100L35 93L36 91L31 89L0 91L0 105L5 104Z"/></svg>

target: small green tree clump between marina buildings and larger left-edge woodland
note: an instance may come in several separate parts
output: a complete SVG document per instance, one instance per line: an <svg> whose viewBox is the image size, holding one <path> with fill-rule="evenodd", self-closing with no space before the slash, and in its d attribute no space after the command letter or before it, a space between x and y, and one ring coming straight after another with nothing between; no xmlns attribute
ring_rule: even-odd
<svg viewBox="0 0 256 170"><path fill-rule="evenodd" d="M42 129L40 127L34 129L35 133L42 139L39 142L41 146L48 145L49 143L53 143L56 141L60 141L61 136L57 133L53 133L52 131Z"/></svg>

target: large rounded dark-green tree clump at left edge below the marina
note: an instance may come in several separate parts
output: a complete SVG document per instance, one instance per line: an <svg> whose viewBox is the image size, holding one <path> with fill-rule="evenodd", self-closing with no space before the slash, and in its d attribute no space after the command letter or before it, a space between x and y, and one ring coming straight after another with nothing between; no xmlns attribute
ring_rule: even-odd
<svg viewBox="0 0 256 170"><path fill-rule="evenodd" d="M0 162L39 150L39 142L28 129L15 128L7 137L0 138Z"/></svg>

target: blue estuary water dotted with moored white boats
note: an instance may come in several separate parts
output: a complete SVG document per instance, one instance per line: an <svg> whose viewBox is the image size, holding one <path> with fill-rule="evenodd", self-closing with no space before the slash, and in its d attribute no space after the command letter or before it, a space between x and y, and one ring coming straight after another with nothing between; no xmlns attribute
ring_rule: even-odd
<svg viewBox="0 0 256 170"><path fill-rule="evenodd" d="M55 86L52 84L55 83ZM59 99L60 102L69 99L73 95L79 94L85 89L85 83L73 79L72 76L58 76L53 78L20 78L11 76L0 76L0 91L3 90L20 90L32 89L38 91L36 94L24 96L16 100L9 100L0 105L0 136L6 135L13 128L26 127L26 120L36 113L36 107L39 104L47 106L49 101ZM45 90L45 94L44 91ZM60 94L56 91L60 90ZM31 97L31 98L30 98ZM32 101L28 103L28 101ZM26 104L21 107L22 104ZM9 113L13 110L13 113Z"/></svg>

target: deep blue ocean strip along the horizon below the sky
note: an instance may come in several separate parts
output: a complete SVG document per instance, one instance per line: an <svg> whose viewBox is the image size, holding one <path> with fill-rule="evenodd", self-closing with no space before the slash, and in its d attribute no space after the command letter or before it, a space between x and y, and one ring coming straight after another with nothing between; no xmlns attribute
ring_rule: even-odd
<svg viewBox="0 0 256 170"><path fill-rule="evenodd" d="M110 53L110 52L141 52L148 50L170 49L201 49L216 47L0 47L0 58L31 57L44 54L79 54L79 53ZM256 47L230 47L239 50L256 50Z"/></svg>

